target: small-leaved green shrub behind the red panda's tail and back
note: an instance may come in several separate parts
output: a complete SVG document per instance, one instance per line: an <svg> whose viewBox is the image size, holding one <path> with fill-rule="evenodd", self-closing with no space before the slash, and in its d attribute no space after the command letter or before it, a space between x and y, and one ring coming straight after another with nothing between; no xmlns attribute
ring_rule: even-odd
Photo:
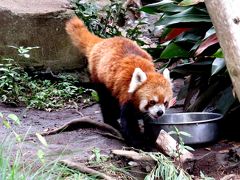
<svg viewBox="0 0 240 180"><path fill-rule="evenodd" d="M139 45L145 44L140 37L143 35L141 27L146 23L140 19L132 26L124 26L127 9L123 7L122 1L111 1L103 8L97 7L94 3L81 2L81 0L74 0L73 5L76 15L94 34L103 38L124 36L136 41ZM123 26L125 30L121 28Z"/></svg>

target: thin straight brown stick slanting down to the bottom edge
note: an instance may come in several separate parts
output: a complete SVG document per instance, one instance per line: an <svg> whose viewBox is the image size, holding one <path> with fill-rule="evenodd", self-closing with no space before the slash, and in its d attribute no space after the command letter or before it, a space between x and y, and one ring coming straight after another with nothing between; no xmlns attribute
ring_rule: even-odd
<svg viewBox="0 0 240 180"><path fill-rule="evenodd" d="M94 169L91 169L87 166L85 166L84 164L81 164L81 163L75 163L75 162L72 162L70 160L60 160L59 163L71 168L71 169L75 169L75 170L78 170L82 173L87 173L87 174L90 174L90 175L95 175L95 176L99 176L105 180L114 180L115 178L111 177L111 176L108 176L104 173L101 173L99 171L96 171Z"/></svg>

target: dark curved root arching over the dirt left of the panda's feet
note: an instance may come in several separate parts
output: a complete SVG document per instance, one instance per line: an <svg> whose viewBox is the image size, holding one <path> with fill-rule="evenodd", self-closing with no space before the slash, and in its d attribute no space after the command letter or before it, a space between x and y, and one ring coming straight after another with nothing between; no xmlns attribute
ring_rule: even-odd
<svg viewBox="0 0 240 180"><path fill-rule="evenodd" d="M118 130L116 130L115 128L113 128L112 126L105 124L105 123L94 121L86 116L73 119L72 121L67 122L66 124L62 125L61 127L53 129L48 132L43 132L43 133L41 133L41 135L47 136L47 135L57 134L60 132L73 131L73 130L77 130L80 128L84 128L84 126L85 127L86 126L95 126L96 128L108 131L108 132L112 133L114 136L122 138L121 133Z"/></svg>

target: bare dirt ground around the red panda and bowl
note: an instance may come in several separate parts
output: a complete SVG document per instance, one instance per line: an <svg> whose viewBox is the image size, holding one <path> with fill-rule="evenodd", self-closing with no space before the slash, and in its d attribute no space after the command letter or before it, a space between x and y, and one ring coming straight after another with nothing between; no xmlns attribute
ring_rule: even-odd
<svg viewBox="0 0 240 180"><path fill-rule="evenodd" d="M102 121L97 104L80 111L84 116L95 121ZM180 111L180 109L171 109L171 111ZM16 146L16 148L22 149L26 161L36 159L37 150L44 148L31 134L60 127L81 117L76 109L67 107L58 111L46 112L35 109L26 111L24 107L15 108L0 104L0 112L5 115L14 113L21 118L20 127L13 127L17 133L26 135L24 143ZM8 134L9 130L0 126L0 139L4 139ZM126 146L122 141L103 136L101 131L96 128L83 128L49 135L46 136L46 140L49 146L44 150L49 159L61 156L62 159L81 162L89 159L94 147L99 148L103 154L110 154L112 149L122 149ZM194 149L193 154L196 159L185 164L185 168L190 174L199 176L200 171L202 171L204 175L215 179L235 174L235 176L231 175L225 178L240 179L240 142L221 139L214 144L194 147ZM138 179L142 178L143 176L139 176Z"/></svg>

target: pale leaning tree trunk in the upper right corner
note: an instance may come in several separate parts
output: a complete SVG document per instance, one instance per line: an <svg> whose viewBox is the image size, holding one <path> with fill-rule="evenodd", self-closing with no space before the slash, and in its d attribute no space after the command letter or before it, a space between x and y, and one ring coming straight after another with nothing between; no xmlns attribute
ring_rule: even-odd
<svg viewBox="0 0 240 180"><path fill-rule="evenodd" d="M240 100L240 0L205 0L205 4Z"/></svg>

